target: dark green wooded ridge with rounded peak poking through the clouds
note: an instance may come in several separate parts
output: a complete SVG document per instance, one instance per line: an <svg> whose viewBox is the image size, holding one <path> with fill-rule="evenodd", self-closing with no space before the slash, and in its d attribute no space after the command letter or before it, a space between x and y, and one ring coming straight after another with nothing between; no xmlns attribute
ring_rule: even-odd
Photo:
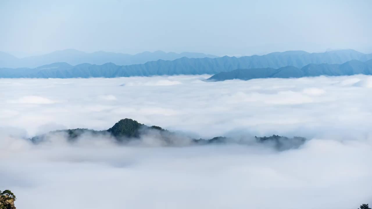
<svg viewBox="0 0 372 209"><path fill-rule="evenodd" d="M298 148L304 144L307 139L303 137L288 138L284 136L272 135L269 137L257 137L252 138L253 140L228 138L223 136L214 137L212 139L195 139L189 136L170 132L159 126L147 126L138 123L132 119L122 119L115 123L111 128L105 131L94 131L91 129L66 129L52 131L44 135L38 135L30 140L34 144L50 141L53 137L61 136L66 138L69 142L77 142L80 137L87 136L92 137L107 137L113 138L116 142L122 144L128 143L141 143L143 141L156 142L158 145L164 146L180 146L180 145L205 145L205 144L221 144L221 143L261 143L269 144L278 150L285 150L291 148Z"/></svg>

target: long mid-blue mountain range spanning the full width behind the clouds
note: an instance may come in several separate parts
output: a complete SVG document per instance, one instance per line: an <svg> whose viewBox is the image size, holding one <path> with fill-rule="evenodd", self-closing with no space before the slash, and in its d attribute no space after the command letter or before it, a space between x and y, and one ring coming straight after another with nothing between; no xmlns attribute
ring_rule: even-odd
<svg viewBox="0 0 372 209"><path fill-rule="evenodd" d="M372 54L354 50L339 50L324 53L304 51L274 52L250 57L179 58L173 61L151 61L145 64L119 66L113 63L103 65L54 63L37 68L0 68L0 78L89 78L129 77L179 74L217 74L235 69L280 68L285 66L304 67L308 64L341 64L350 60L367 61Z"/></svg>

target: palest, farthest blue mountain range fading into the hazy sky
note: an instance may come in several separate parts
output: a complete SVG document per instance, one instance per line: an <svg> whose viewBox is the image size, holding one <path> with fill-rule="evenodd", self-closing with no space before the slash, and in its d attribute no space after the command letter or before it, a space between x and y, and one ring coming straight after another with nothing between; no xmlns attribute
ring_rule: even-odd
<svg viewBox="0 0 372 209"><path fill-rule="evenodd" d="M196 52L142 52L139 54L123 54L113 52L93 52L86 53L75 49L65 49L61 51L51 52L49 54L31 56L25 58L17 58L5 52L0 52L0 67L6 68L35 68L41 65L51 64L54 62L66 62L70 65L78 65L83 63L102 65L112 62L116 65L133 65L144 64L148 61L156 60L176 60L181 57L188 58L216 58L215 55L196 53Z"/></svg>

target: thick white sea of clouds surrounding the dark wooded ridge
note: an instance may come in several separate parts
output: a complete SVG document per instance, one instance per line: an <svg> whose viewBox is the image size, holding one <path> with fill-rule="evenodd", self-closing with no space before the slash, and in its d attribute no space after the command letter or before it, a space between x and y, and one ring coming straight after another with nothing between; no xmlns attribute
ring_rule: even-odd
<svg viewBox="0 0 372 209"><path fill-rule="evenodd" d="M355 209L372 203L372 77L0 79L0 190L17 208ZM118 146L123 118L193 137L304 136L299 149Z"/></svg>

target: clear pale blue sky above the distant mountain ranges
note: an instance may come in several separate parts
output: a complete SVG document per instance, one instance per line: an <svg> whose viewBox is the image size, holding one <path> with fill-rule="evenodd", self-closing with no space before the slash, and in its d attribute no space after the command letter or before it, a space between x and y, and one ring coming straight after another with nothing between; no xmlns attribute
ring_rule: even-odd
<svg viewBox="0 0 372 209"><path fill-rule="evenodd" d="M372 53L371 11L372 0L0 0L0 51Z"/></svg>

